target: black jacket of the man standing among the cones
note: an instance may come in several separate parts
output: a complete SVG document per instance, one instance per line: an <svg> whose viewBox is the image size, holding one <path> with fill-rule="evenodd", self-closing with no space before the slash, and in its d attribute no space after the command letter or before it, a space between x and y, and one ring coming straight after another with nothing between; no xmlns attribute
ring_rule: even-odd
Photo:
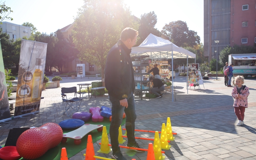
<svg viewBox="0 0 256 160"><path fill-rule="evenodd" d="M105 86L108 94L119 100L127 98L135 90L131 51L119 40L107 55Z"/></svg>

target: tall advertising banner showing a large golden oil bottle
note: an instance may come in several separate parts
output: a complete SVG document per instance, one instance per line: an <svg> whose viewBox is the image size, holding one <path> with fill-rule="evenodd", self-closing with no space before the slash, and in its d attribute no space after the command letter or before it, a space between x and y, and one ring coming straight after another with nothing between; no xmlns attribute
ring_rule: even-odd
<svg viewBox="0 0 256 160"><path fill-rule="evenodd" d="M39 111L47 43L21 40L14 116Z"/></svg>

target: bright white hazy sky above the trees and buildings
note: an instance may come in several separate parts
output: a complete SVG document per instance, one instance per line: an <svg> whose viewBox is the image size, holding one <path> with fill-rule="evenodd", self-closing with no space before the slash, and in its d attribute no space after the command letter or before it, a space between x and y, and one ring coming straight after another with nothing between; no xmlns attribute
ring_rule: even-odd
<svg viewBox="0 0 256 160"><path fill-rule="evenodd" d="M157 16L155 28L159 31L172 21L185 21L190 30L196 31L203 43L203 0L124 0L132 15L140 18L154 11ZM74 22L83 0L5 0L13 11L4 20L21 25L32 23L39 32L51 33Z"/></svg>

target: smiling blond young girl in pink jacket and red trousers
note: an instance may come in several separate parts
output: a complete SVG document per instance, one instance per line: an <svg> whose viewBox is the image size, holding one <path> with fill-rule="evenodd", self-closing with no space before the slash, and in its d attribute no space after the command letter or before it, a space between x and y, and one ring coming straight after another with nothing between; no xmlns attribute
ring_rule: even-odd
<svg viewBox="0 0 256 160"><path fill-rule="evenodd" d="M241 126L244 124L244 112L245 108L248 107L247 97L250 95L249 88L244 84L243 76L235 77L236 87L232 90L232 97L235 98L233 107L235 108L236 117L238 117L239 122L236 126Z"/></svg>

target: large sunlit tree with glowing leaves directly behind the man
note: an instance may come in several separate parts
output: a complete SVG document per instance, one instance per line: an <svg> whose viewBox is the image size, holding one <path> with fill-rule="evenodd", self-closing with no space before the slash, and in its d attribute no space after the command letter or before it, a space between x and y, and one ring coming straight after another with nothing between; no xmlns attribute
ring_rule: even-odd
<svg viewBox="0 0 256 160"><path fill-rule="evenodd" d="M135 26L138 25L123 0L84 0L72 32L80 60L101 67L104 78L108 51L124 28L138 30Z"/></svg>

